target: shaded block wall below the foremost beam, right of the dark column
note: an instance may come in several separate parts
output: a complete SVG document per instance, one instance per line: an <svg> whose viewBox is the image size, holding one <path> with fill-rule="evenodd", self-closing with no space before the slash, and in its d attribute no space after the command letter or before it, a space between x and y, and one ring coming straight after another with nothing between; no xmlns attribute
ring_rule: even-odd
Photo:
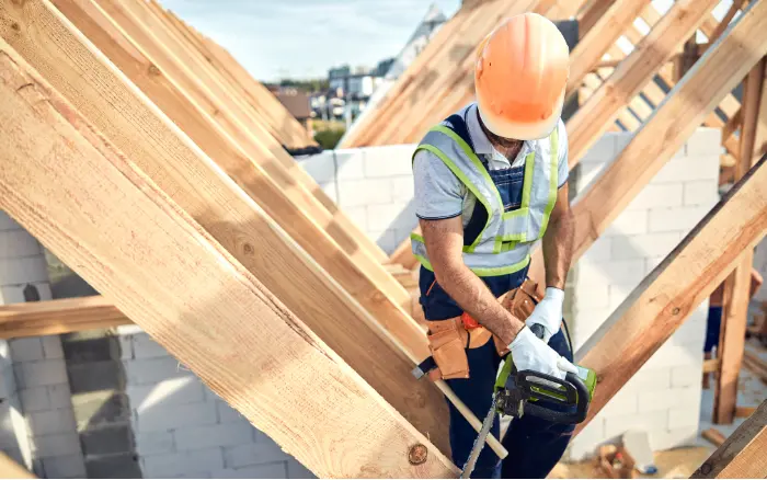
<svg viewBox="0 0 767 480"><path fill-rule="evenodd" d="M144 478L314 478L140 328L118 331Z"/></svg>

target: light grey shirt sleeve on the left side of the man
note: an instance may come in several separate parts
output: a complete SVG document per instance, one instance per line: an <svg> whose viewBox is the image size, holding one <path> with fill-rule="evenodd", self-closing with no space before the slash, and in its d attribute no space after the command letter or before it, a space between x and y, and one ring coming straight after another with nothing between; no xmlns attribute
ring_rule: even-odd
<svg viewBox="0 0 767 480"><path fill-rule="evenodd" d="M457 217L462 212L461 183L437 156L419 150L413 160L415 215L424 220Z"/></svg>

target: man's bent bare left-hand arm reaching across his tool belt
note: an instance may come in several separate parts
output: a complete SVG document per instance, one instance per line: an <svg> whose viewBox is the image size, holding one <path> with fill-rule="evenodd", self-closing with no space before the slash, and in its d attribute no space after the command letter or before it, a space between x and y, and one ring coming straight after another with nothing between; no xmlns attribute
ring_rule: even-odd
<svg viewBox="0 0 767 480"><path fill-rule="evenodd" d="M421 219L420 225L439 286L505 345L511 344L525 324L503 308L484 282L463 263L461 217Z"/></svg>

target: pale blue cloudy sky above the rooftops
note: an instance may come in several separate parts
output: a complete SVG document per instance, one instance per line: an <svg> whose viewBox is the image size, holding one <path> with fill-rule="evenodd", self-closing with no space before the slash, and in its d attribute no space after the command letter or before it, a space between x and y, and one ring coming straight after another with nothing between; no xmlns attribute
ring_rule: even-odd
<svg viewBox="0 0 767 480"><path fill-rule="evenodd" d="M259 80L325 77L330 67L397 55L432 3L460 0L160 0Z"/></svg>

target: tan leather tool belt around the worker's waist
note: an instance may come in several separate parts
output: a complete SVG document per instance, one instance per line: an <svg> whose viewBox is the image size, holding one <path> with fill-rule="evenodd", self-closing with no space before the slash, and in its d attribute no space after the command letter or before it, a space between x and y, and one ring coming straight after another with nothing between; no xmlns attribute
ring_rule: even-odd
<svg viewBox="0 0 767 480"><path fill-rule="evenodd" d="M536 283L527 278L519 287L499 297L499 301L524 322L541 300L536 287ZM419 378L423 375L428 375L432 380L469 378L467 350L483 346L491 338L499 355L508 353L507 345L466 312L446 320L426 321L426 324L432 356L413 370Z"/></svg>

